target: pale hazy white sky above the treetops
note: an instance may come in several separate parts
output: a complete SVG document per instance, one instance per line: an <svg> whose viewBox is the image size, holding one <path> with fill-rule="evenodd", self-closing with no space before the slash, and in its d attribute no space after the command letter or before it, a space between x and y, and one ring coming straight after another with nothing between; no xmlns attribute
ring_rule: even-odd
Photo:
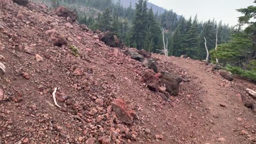
<svg viewBox="0 0 256 144"><path fill-rule="evenodd" d="M237 24L237 18L241 16L236 9L253 5L254 0L149 0L167 10L182 14L185 18L196 14L199 20L215 18L230 25Z"/></svg>

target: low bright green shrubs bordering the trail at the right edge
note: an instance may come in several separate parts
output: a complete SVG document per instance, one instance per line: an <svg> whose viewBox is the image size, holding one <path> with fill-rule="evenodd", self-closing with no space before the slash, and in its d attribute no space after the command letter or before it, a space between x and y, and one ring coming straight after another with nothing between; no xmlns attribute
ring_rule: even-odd
<svg viewBox="0 0 256 144"><path fill-rule="evenodd" d="M230 65L226 66L226 70L233 74L248 78L252 81L256 81L256 71L255 70L244 70L241 67L232 67Z"/></svg>

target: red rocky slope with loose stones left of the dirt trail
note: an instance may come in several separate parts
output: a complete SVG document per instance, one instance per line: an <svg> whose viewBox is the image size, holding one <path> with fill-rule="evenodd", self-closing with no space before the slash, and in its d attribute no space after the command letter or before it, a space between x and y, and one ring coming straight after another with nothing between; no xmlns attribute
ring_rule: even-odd
<svg viewBox="0 0 256 144"><path fill-rule="evenodd" d="M85 26L54 13L45 5L0 0L0 62L6 67L5 73L0 69L0 143L222 140L209 132L214 122L198 76L161 55L109 47ZM138 53L154 58L157 70L148 63L151 58L141 60ZM202 73L211 69L195 63ZM167 83L177 76L181 80ZM174 93L167 91L178 83ZM254 134L237 143L252 142Z"/></svg>

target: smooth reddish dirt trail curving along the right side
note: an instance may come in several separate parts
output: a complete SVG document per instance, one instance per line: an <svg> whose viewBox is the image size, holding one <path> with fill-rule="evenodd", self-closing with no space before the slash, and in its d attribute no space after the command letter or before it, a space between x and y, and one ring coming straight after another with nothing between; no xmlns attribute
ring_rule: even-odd
<svg viewBox="0 0 256 144"><path fill-rule="evenodd" d="M202 131L202 137L209 138L205 143L254 143L255 115L243 106L237 87L223 86L223 78L212 75L198 61L174 57L170 60L197 77L196 83L206 91L203 103L205 109L209 109L206 117L212 124L204 127L209 131ZM221 104L226 107L220 106Z"/></svg>

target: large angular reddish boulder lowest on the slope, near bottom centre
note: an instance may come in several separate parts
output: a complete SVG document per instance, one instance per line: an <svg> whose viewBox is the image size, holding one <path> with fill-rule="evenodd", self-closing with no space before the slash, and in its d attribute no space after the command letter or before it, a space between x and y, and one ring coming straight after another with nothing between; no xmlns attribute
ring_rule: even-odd
<svg viewBox="0 0 256 144"><path fill-rule="evenodd" d="M113 111L115 111L116 116L125 124L131 124L135 116L135 111L127 105L127 103L122 99L115 99L111 102Z"/></svg>

